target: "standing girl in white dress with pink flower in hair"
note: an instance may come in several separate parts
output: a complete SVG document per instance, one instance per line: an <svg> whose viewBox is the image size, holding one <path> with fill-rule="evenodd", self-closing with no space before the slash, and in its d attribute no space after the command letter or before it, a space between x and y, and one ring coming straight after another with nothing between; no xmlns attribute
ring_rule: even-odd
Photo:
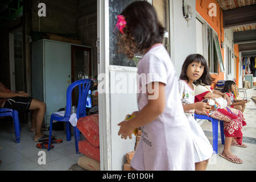
<svg viewBox="0 0 256 182"><path fill-rule="evenodd" d="M118 124L121 138L131 139L134 129L142 130L132 169L195 170L191 129L154 7L145 1L131 3L118 16L117 27L119 51L130 59L143 53L138 63L139 112Z"/></svg>

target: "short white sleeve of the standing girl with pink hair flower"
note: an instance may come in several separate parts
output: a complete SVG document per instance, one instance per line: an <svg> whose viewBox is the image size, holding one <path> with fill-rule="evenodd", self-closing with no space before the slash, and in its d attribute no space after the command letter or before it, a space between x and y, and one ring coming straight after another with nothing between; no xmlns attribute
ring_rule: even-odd
<svg viewBox="0 0 256 182"><path fill-rule="evenodd" d="M143 60L142 73L146 74L146 82L162 82L167 84L167 65L155 55L146 55Z"/></svg>

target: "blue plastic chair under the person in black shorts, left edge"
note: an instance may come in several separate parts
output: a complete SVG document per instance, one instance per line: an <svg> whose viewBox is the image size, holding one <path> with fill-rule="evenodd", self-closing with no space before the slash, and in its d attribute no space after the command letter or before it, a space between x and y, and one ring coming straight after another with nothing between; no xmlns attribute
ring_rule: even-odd
<svg viewBox="0 0 256 182"><path fill-rule="evenodd" d="M19 113L17 110L2 108L0 109L0 117L11 116L13 118L14 129L15 129L15 142L20 142L20 123L19 123Z"/></svg>

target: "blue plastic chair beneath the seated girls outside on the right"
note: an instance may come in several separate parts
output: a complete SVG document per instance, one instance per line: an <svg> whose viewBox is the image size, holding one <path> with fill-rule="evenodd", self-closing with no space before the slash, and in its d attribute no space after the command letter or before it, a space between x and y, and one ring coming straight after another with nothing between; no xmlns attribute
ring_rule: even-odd
<svg viewBox="0 0 256 182"><path fill-rule="evenodd" d="M212 122L212 137L213 137L213 152L218 154L218 119L208 117L207 115L194 115L195 119L207 119ZM220 130L221 130L221 143L225 144L224 138L224 122L220 121Z"/></svg>

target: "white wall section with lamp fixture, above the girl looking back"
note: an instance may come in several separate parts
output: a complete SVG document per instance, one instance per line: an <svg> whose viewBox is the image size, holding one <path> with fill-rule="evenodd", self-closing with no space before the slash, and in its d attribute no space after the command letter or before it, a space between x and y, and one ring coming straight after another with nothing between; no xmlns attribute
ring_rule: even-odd
<svg viewBox="0 0 256 182"><path fill-rule="evenodd" d="M171 19L173 21L173 41L174 41L174 52L172 60L174 61L176 74L179 77L181 67L185 61L185 58L196 53L196 0L185 0L184 4L190 5L192 10L192 20L188 23L183 18L182 1L172 0L173 2L173 13ZM173 15L173 17L172 17Z"/></svg>

